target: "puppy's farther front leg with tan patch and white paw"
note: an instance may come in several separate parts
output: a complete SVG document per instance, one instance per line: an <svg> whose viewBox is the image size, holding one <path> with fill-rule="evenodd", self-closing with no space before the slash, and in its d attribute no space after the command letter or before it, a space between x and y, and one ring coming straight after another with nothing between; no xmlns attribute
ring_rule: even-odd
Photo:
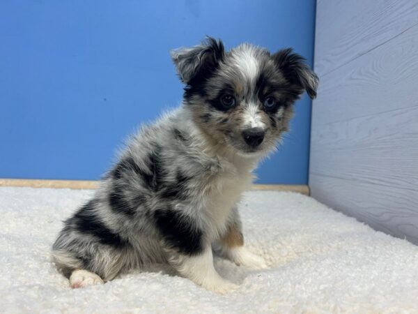
<svg viewBox="0 0 418 314"><path fill-rule="evenodd" d="M242 225L238 209L235 207L233 216L229 222L226 233L219 241L221 253L229 258L238 266L244 266L251 269L263 269L267 267L262 257L255 255L244 246L244 237L242 236Z"/></svg>

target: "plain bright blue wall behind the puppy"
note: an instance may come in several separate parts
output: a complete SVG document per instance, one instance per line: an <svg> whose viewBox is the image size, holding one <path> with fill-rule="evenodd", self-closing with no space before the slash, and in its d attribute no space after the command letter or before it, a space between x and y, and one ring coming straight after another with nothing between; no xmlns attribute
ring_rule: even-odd
<svg viewBox="0 0 418 314"><path fill-rule="evenodd" d="M0 177L98 179L142 122L180 103L169 50L205 35L294 47L312 63L315 1L0 2ZM258 170L307 184L311 103Z"/></svg>

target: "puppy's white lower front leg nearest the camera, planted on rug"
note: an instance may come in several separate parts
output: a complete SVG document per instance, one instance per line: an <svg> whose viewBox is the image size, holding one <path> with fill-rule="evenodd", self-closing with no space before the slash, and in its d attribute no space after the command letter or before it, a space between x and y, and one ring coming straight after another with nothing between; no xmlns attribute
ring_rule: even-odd
<svg viewBox="0 0 418 314"><path fill-rule="evenodd" d="M210 291L224 294L238 287L238 285L219 276L215 267L213 267L210 245L206 246L201 253L195 255L173 255L171 265L182 276Z"/></svg>

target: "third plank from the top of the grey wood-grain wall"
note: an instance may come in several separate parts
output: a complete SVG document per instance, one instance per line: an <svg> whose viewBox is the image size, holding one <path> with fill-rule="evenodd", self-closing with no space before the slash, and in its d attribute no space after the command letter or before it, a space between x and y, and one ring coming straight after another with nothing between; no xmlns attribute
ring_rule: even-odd
<svg viewBox="0 0 418 314"><path fill-rule="evenodd" d="M418 193L418 99L414 107L311 130L311 174Z"/></svg>

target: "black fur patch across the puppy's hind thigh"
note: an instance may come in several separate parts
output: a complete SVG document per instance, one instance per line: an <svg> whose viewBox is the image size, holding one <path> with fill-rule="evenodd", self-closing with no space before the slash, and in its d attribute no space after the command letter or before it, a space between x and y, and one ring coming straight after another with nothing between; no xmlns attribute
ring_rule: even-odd
<svg viewBox="0 0 418 314"><path fill-rule="evenodd" d="M117 248L127 246L127 240L121 238L119 234L112 232L109 227L104 225L94 209L95 200L91 200L70 218L75 223L76 230L84 234L92 234L98 238L101 244L107 244Z"/></svg>

